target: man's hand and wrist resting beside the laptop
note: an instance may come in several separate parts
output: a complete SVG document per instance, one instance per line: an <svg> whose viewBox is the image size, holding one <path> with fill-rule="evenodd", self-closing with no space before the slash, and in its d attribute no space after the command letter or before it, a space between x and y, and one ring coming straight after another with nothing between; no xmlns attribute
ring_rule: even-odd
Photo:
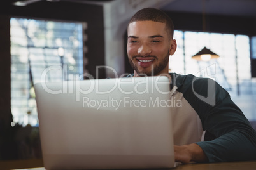
<svg viewBox="0 0 256 170"><path fill-rule="evenodd" d="M188 164L189 162L208 162L208 158L203 150L196 143L190 145L174 145L174 155L176 162Z"/></svg>

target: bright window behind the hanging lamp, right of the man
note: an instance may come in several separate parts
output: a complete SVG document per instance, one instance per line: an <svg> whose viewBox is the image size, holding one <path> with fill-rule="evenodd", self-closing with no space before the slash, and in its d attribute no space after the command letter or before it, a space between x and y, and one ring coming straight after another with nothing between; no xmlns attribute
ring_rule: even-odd
<svg viewBox="0 0 256 170"><path fill-rule="evenodd" d="M252 91L250 81L250 39L245 35L174 31L178 48L170 57L169 70L180 74L211 77L230 93ZM197 62L191 57L204 48L220 58Z"/></svg>

